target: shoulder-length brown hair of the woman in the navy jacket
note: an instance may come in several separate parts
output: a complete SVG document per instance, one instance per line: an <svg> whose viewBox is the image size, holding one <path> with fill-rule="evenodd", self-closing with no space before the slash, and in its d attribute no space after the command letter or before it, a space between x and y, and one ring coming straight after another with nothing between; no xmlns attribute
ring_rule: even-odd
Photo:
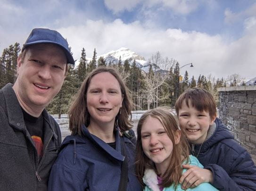
<svg viewBox="0 0 256 191"><path fill-rule="evenodd" d="M117 125L121 131L130 130L132 128L132 102L130 99L128 88L126 87L120 75L115 69L108 67L99 67L92 70L91 73L88 74L69 109L69 130L71 130L73 135L81 135L82 125L88 127L88 125L90 124L90 114L87 110L86 93L90 85L91 78L102 72L108 72L116 78L120 85L122 96L124 98L122 107L120 108L120 112L116 115L115 125Z"/></svg>

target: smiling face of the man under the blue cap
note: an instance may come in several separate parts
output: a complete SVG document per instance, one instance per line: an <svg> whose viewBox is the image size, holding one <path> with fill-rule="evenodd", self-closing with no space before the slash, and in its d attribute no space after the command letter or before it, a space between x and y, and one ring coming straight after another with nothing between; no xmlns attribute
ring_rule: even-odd
<svg viewBox="0 0 256 191"><path fill-rule="evenodd" d="M14 90L27 109L44 108L59 92L66 77L66 55L53 44L29 46L24 60L17 60Z"/></svg>

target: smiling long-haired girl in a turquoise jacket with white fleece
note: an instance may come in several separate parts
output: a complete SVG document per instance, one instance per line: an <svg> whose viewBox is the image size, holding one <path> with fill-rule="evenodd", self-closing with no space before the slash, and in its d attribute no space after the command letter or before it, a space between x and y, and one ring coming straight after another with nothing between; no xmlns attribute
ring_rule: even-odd
<svg viewBox="0 0 256 191"><path fill-rule="evenodd" d="M156 108L143 114L137 127L136 175L144 191L181 191L179 179L186 169L182 163L200 168L199 161L189 155L184 133L167 108ZM216 191L202 183L188 191Z"/></svg>

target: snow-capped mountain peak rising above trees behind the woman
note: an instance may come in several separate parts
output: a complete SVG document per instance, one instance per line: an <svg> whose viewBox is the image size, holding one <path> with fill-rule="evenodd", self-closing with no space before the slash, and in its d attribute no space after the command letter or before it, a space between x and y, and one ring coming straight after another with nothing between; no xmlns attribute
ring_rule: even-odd
<svg viewBox="0 0 256 191"><path fill-rule="evenodd" d="M128 60L129 63L132 64L132 62L135 59L136 64L140 69L142 69L144 65L147 64L147 61L145 61L145 58L143 56L140 56L139 54L131 51L129 48L124 47L119 48L118 50L110 51L108 53L99 55L98 58L100 56L102 56L106 60L106 63L109 63L111 61L115 64L119 61L120 56L122 64L124 64L125 60Z"/></svg>

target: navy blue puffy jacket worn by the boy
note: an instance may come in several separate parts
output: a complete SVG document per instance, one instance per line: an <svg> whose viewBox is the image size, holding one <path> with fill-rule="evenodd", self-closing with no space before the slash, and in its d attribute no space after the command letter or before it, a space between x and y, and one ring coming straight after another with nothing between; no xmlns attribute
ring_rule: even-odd
<svg viewBox="0 0 256 191"><path fill-rule="evenodd" d="M220 119L213 135L195 146L198 160L212 171L213 186L220 191L256 191L256 167L249 153L239 145ZM190 145L192 146L192 145Z"/></svg>

